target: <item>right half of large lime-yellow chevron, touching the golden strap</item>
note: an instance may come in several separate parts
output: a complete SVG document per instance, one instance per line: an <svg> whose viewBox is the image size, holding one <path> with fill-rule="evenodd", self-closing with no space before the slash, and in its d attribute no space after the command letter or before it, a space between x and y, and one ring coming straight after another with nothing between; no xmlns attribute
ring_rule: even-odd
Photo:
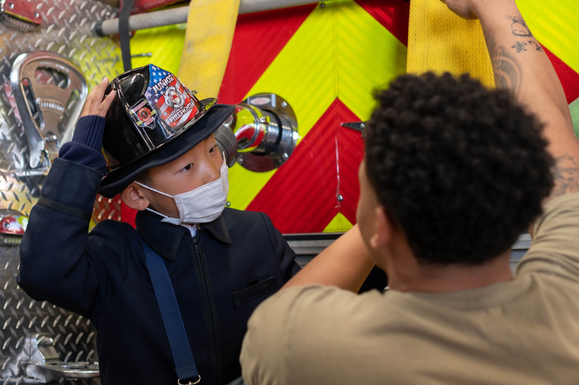
<svg viewBox="0 0 579 385"><path fill-rule="evenodd" d="M335 8L338 97L368 120L375 106L373 91L406 72L406 46L356 2Z"/></svg>

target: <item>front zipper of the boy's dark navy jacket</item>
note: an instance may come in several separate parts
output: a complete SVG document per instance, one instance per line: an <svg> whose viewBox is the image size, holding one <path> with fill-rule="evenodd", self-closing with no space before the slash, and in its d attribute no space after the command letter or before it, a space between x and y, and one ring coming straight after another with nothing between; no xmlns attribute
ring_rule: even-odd
<svg viewBox="0 0 579 385"><path fill-rule="evenodd" d="M201 302L203 303L203 316L207 328L207 340L209 343L209 356L211 363L211 383L217 385L221 375L221 338L219 335L219 324L217 320L217 309L215 308L215 298L211 287L209 269L207 261L201 248L201 236L199 232L193 238L197 257L197 271L200 278Z"/></svg>

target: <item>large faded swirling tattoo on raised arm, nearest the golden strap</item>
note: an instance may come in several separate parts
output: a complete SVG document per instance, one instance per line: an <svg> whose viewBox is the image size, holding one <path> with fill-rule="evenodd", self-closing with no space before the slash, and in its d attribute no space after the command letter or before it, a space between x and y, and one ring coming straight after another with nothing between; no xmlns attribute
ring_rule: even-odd
<svg viewBox="0 0 579 385"><path fill-rule="evenodd" d="M518 97L521 90L521 66L504 46L497 46L494 34L485 35L485 39L493 64L494 84L497 88L507 88L515 98Z"/></svg>

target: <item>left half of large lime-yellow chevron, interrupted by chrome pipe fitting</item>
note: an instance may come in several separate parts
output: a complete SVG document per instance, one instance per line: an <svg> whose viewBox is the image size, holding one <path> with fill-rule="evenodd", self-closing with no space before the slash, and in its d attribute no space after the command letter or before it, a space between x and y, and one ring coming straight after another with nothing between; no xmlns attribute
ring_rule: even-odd
<svg viewBox="0 0 579 385"><path fill-rule="evenodd" d="M273 92L287 100L298 118L301 138L337 94L332 13L326 12L329 8L331 6L317 7L306 18L246 95ZM247 208L274 172L252 172L239 164L230 168L231 207Z"/></svg>

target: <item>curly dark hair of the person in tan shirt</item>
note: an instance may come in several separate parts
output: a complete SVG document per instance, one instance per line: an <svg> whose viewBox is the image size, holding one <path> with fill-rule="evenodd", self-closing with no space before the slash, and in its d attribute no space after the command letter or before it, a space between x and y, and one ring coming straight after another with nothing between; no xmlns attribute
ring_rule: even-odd
<svg viewBox="0 0 579 385"><path fill-rule="evenodd" d="M377 92L366 170L421 263L477 265L541 214L554 160L543 125L468 75L402 75Z"/></svg>

